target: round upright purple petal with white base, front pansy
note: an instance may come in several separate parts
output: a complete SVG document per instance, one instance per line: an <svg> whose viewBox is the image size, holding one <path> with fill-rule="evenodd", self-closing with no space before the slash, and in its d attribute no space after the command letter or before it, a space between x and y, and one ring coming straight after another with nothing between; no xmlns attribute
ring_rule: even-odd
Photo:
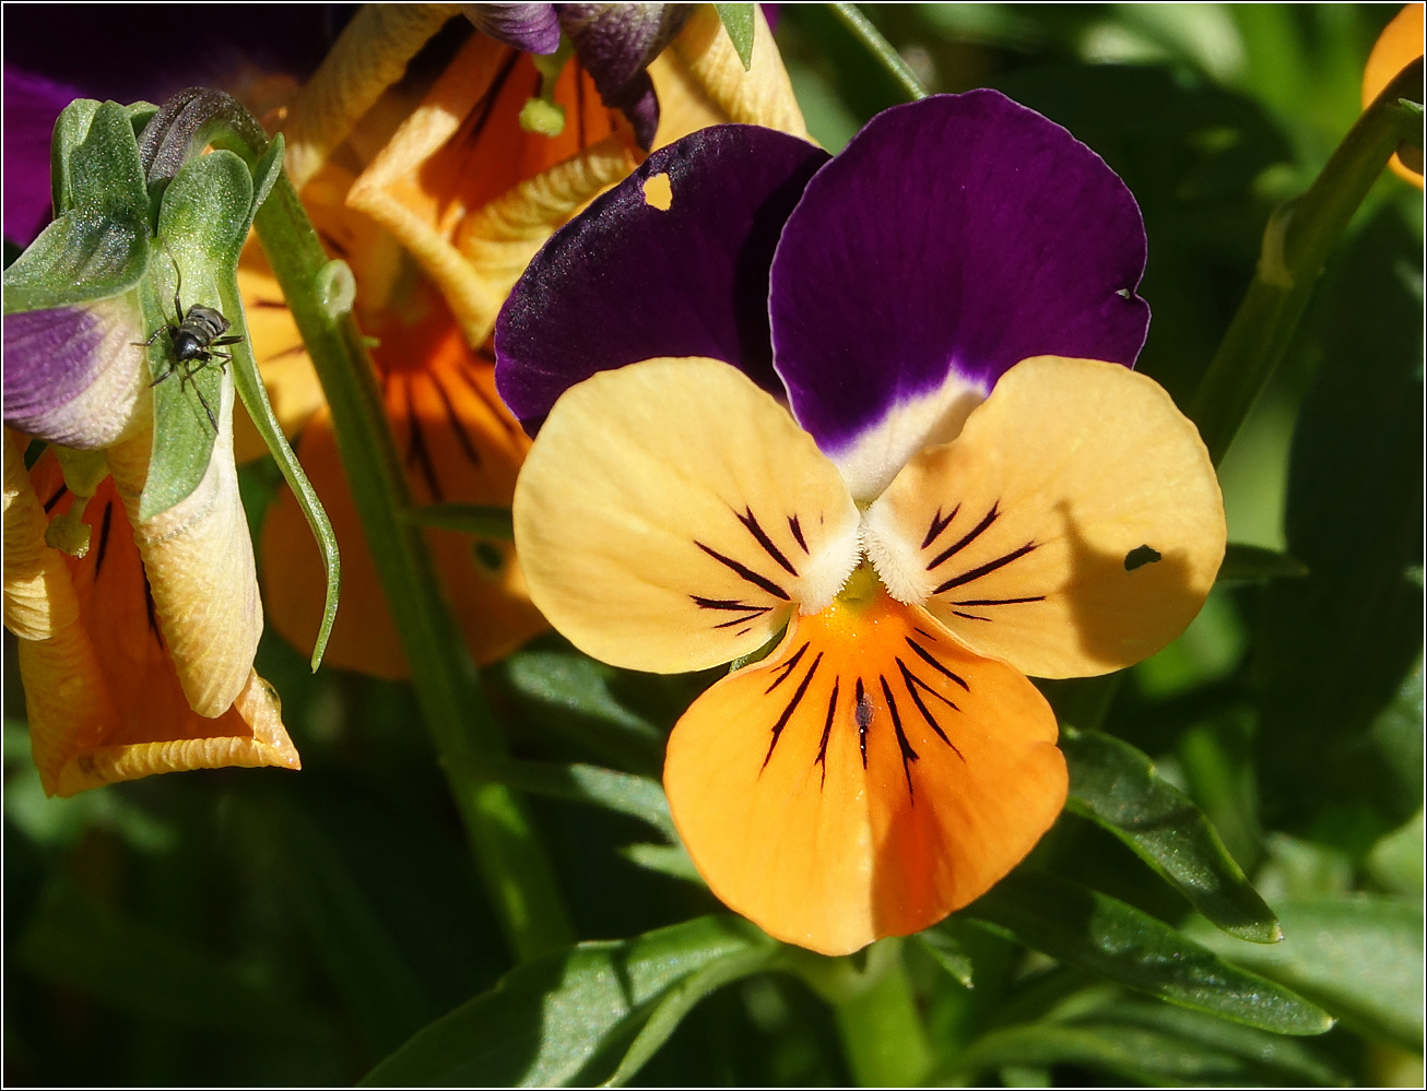
<svg viewBox="0 0 1427 1091"><path fill-rule="evenodd" d="M1132 367L1149 327L1134 295L1144 248L1124 183L1040 114L989 90L893 107L809 183L783 228L769 297L778 374L835 459L880 428L948 439L938 428L955 434L1022 359ZM956 419L922 419L928 406Z"/></svg>

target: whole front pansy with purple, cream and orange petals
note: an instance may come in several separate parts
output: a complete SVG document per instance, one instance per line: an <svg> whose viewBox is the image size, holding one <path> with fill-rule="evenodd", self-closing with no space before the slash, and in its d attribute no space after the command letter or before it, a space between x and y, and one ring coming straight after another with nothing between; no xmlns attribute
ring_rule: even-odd
<svg viewBox="0 0 1427 1091"><path fill-rule="evenodd" d="M701 874L772 936L841 954L980 896L1066 796L1026 676L1123 667L1203 603L1223 506L1130 369L1144 257L1095 153L972 91L831 160L695 133L511 294L535 605L638 670L782 633L695 700L664 770Z"/></svg>

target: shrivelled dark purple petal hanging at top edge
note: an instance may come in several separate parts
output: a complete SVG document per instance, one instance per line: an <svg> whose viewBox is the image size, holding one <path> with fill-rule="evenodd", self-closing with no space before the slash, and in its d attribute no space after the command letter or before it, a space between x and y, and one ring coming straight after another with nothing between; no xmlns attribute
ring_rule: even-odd
<svg viewBox="0 0 1427 1091"><path fill-rule="evenodd" d="M692 4L559 6L559 24L599 97L625 113L644 148L659 127L659 103L644 68L674 41L692 11Z"/></svg>

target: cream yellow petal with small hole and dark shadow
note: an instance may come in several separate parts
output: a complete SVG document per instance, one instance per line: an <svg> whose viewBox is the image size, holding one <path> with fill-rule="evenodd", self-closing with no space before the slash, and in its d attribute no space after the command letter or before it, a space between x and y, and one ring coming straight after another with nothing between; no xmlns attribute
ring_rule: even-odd
<svg viewBox="0 0 1427 1091"><path fill-rule="evenodd" d="M888 589L1027 675L1103 675L1173 640L1224 555L1194 425L1117 364L1017 364L868 509Z"/></svg>

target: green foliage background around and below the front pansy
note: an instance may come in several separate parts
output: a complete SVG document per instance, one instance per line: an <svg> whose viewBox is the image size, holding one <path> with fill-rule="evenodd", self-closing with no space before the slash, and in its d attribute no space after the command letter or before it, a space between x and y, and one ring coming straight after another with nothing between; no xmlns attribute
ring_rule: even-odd
<svg viewBox="0 0 1427 1091"><path fill-rule="evenodd" d="M1120 173L1149 231L1140 368L1184 404L1270 210L1357 116L1394 11L866 14L930 91L999 87ZM900 101L822 6L785 6L778 40L831 150ZM1103 732L1070 747L1087 763L1076 803L1007 884L898 948L905 973L875 985L900 990L919 1030L885 1034L915 1045L923 1078L1420 1085L1421 245L1420 193L1384 177L1222 466L1230 539L1260 549L1117 686L1047 687L1069 722ZM254 526L277 476L244 471ZM375 1081L606 1078L631 1055L648 1062L621 1078L648 1085L865 1075L846 1027L868 995L862 963L813 973L746 936L661 824L648 777L716 672L614 670L547 636L485 673L577 931L619 941L512 973L407 687L313 676L268 635L257 667L283 695L301 774L44 800L9 635L6 666L7 1082L350 1084L424 1027ZM1281 944L1230 934L1267 938L1264 903ZM1261 975L1281 1004L1194 991L1216 974L1247 991ZM1331 1031L1274 1033L1320 1030L1316 1005L1340 1020ZM542 1037L547 1023L568 1033Z"/></svg>

